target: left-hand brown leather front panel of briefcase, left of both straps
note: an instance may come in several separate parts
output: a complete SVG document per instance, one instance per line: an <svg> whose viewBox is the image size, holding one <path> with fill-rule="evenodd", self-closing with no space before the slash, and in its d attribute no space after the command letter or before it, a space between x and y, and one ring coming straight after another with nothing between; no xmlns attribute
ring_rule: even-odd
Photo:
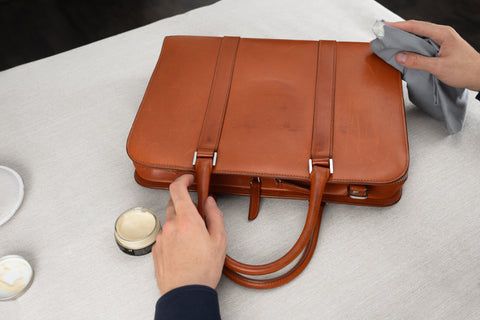
<svg viewBox="0 0 480 320"><path fill-rule="evenodd" d="M222 38L167 37L130 131L127 152L147 167L194 173Z"/></svg>

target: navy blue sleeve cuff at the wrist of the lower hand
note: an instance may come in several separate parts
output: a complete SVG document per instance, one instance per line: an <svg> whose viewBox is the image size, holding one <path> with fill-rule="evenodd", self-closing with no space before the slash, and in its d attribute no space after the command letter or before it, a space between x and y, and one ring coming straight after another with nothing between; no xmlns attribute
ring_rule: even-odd
<svg viewBox="0 0 480 320"><path fill-rule="evenodd" d="M217 292L192 285L173 289L158 299L155 320L220 320Z"/></svg>

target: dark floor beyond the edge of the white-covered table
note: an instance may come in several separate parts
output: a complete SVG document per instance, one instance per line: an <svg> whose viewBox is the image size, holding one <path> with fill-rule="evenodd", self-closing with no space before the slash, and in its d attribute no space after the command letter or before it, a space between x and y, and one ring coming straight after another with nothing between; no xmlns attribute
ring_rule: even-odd
<svg viewBox="0 0 480 320"><path fill-rule="evenodd" d="M217 1L0 0L0 70ZM405 19L451 25L477 50L480 49L480 0L378 2Z"/></svg>

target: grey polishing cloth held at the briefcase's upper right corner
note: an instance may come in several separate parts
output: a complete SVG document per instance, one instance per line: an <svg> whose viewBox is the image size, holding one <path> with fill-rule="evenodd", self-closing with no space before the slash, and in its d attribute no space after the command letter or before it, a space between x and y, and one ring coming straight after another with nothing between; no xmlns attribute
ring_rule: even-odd
<svg viewBox="0 0 480 320"><path fill-rule="evenodd" d="M395 55L401 51L436 57L440 46L429 38L394 28L381 21L375 23L373 32L377 38L370 43L370 48L402 73L402 79L407 82L410 100L432 117L444 121L450 134L460 131L467 111L468 90L446 85L427 71L406 68L395 60Z"/></svg>

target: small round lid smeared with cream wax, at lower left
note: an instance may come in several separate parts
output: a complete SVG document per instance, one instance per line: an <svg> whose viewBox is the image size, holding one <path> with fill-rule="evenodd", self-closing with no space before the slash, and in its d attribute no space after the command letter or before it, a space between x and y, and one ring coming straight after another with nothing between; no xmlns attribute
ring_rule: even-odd
<svg viewBox="0 0 480 320"><path fill-rule="evenodd" d="M30 287L33 269L27 260L9 255L0 258L0 301L18 298Z"/></svg>

